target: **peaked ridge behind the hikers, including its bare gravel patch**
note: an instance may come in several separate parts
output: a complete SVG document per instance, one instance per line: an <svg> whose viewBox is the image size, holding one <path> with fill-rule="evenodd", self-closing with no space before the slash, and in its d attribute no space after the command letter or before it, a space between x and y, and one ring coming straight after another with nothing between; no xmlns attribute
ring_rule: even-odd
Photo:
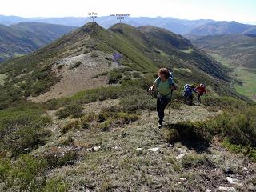
<svg viewBox="0 0 256 192"><path fill-rule="evenodd" d="M117 31L114 32L114 28ZM123 30L121 34L119 33L120 29ZM157 29L157 33L161 34L160 36L156 35L155 29ZM134 33L130 33L130 30L133 30ZM95 22L89 22L33 54L2 63L0 74L8 74L5 81L6 88L2 89L7 90L6 97L8 98L9 90L16 90L17 88L14 86L18 84L20 86L17 91L18 94L23 95L22 97L32 96L36 100L38 96L42 95L39 100L46 101L50 98L65 96L66 89L72 85L78 87L73 94L86 89L85 86L77 86L80 83L79 75L83 73L86 73L84 74L86 78L83 78L83 81L89 81L94 85L102 79L103 85L107 86L107 79L101 77L104 77L104 74L106 77L107 74L107 77L110 78L110 74L116 73L110 73L110 71L119 66L126 67L122 70L124 74L119 74L121 78L125 78L125 74L129 73L129 70L138 71L141 74L155 74L158 67L170 66L176 70L175 76L180 79L179 83L191 81L191 77L193 77L194 82L205 82L211 85L218 94L232 94L243 98L242 95L228 87L230 77L226 75L226 69L218 62L207 57L201 50L191 45L186 38L161 28L154 27L154 30L150 33L142 32L138 28L125 24L118 24L112 29L106 30ZM132 41L131 39L134 38L137 40ZM180 43L183 46L182 49L171 45L172 39L175 40L173 42ZM114 53L122 55L120 63L114 62L111 58ZM82 60L78 60L78 58ZM86 67L89 67L87 65L92 65L90 63L93 62L102 63L101 67L105 71L97 70L97 68L91 69L94 73L90 70L86 71ZM71 68L73 66L74 69ZM102 73L103 75L101 75ZM99 75L98 78L93 78L97 75ZM102 85L102 82L97 85ZM224 85L225 89L222 88Z"/></svg>

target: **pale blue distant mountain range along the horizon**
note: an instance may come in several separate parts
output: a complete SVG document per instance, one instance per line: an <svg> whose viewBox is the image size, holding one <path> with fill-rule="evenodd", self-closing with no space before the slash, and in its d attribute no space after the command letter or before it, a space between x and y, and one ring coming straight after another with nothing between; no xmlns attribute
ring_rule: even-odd
<svg viewBox="0 0 256 192"><path fill-rule="evenodd" d="M83 26L90 22L90 18L21 18L16 16L0 15L0 23L5 25L17 22L45 22L67 26ZM96 22L104 28L109 28L119 22L115 17L103 16L96 19ZM217 22L211 19L187 20L178 18L148 18L128 17L124 23L130 26L158 26L170 30L175 34L195 34L195 35L214 35L214 34L256 34L256 26L238 22Z"/></svg>

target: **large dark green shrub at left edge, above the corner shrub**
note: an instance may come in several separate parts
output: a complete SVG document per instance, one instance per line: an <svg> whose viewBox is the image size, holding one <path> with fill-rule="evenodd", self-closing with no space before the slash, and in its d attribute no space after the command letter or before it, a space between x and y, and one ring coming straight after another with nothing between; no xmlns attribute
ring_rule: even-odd
<svg viewBox="0 0 256 192"><path fill-rule="evenodd" d="M43 145L50 136L46 126L52 123L52 119L42 113L38 104L29 102L0 110L0 150L18 156L26 148L27 152Z"/></svg>

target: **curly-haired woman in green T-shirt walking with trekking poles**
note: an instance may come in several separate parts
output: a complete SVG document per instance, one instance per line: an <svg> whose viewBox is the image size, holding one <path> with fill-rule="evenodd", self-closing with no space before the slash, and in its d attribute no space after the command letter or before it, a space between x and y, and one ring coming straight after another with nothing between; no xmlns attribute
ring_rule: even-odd
<svg viewBox="0 0 256 192"><path fill-rule="evenodd" d="M173 78L170 78L170 70L161 68L158 70L158 78L155 79L153 86L150 86L150 93L153 90L158 90L157 111L158 111L158 127L162 128L164 118L164 110L172 95L172 90L176 90Z"/></svg>

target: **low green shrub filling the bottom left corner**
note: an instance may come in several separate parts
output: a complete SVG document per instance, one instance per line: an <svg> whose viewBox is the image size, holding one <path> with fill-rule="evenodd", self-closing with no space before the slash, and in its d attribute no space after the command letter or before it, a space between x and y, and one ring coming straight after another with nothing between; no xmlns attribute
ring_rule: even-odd
<svg viewBox="0 0 256 192"><path fill-rule="evenodd" d="M0 183L3 191L66 192L69 185L61 178L46 180L48 163L45 158L29 154L20 155L15 161L0 160Z"/></svg>

